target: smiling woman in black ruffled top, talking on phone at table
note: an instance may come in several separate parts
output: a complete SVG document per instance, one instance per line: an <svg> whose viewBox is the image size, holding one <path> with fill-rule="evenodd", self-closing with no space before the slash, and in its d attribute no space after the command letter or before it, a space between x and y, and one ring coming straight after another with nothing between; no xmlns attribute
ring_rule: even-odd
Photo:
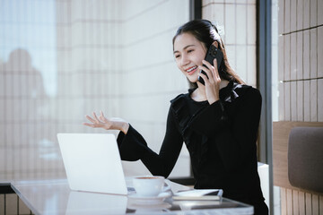
<svg viewBox="0 0 323 215"><path fill-rule="evenodd" d="M219 71L215 59L214 66L204 60L212 44L223 51ZM141 134L122 119L93 113L93 118L86 116L92 123L84 125L120 130L121 159L141 159L158 176L170 175L185 142L196 189L222 188L224 197L252 204L255 214L268 214L258 176L259 91L244 85L233 72L223 41L209 21L196 20L181 26L173 38L173 51L190 89L170 101L159 154L149 149ZM205 85L198 82L198 76Z"/></svg>

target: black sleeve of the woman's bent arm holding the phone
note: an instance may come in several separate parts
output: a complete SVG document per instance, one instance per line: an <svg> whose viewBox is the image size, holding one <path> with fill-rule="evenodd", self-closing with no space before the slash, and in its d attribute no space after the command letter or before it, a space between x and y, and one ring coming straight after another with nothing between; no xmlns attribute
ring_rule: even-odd
<svg viewBox="0 0 323 215"><path fill-rule="evenodd" d="M237 164L253 159L256 154L258 125L261 112L261 95L257 89L249 88L235 100L231 110L218 100L205 108L196 117L193 129L210 139L214 139L226 168L236 168Z"/></svg>

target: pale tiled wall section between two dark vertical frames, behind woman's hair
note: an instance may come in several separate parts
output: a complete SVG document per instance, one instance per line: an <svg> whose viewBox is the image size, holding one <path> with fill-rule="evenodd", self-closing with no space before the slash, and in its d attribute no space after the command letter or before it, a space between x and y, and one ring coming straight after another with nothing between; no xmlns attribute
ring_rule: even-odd
<svg viewBox="0 0 323 215"><path fill-rule="evenodd" d="M203 18L218 23L229 63L249 85L257 87L256 1L204 0Z"/></svg>

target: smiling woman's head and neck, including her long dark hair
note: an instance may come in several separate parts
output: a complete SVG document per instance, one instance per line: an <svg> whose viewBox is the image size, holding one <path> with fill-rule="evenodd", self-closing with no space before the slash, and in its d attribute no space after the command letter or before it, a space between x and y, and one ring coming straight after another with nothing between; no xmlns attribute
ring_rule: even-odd
<svg viewBox="0 0 323 215"><path fill-rule="evenodd" d="M204 75L205 72L201 74L196 72L200 72L201 70L204 71L206 66L203 65L207 63L204 64L203 59L205 58L207 49L212 45L218 47L223 53L223 61L217 62L214 60L214 62L208 62L212 65L220 64L219 67L215 66L216 68L219 68L219 71L214 73L214 75L216 75L215 79L217 79L217 82L220 82L221 88L223 88L223 86L225 86L229 81L238 82L240 84L244 83L231 69L228 57L226 56L223 41L218 33L217 28L211 22L201 22L205 22L204 24L205 26L208 26L208 28L205 26L205 28L202 28L199 26L201 23L198 22L188 22L186 25L179 28L172 40L176 63L179 70L181 70L187 76L190 88L195 89L198 86L201 86L201 83L204 84L205 79L207 79L207 77ZM199 76L200 82L197 82ZM223 82L221 82L221 80L223 80ZM212 83L212 79L210 83ZM206 86L208 85L209 84ZM197 96L196 100L205 100L206 95L203 96L204 93L199 93L199 89L201 88L198 88L195 92L193 92L192 96ZM216 92L214 91L214 93ZM215 98L215 100L217 99L218 98Z"/></svg>

